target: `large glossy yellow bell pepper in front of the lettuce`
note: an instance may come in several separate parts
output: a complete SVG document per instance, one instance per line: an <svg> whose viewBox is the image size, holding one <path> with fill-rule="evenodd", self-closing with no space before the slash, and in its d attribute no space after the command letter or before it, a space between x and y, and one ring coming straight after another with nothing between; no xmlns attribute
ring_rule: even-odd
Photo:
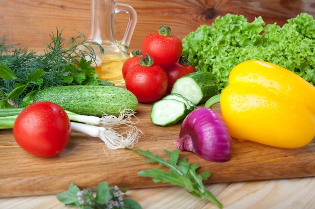
<svg viewBox="0 0 315 209"><path fill-rule="evenodd" d="M271 63L235 66L220 106L231 136L241 141L298 148L315 135L315 87Z"/></svg>

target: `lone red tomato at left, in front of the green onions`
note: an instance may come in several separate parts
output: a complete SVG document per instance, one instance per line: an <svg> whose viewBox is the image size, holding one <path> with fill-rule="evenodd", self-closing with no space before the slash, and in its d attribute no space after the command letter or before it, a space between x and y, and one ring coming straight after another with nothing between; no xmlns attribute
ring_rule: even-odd
<svg viewBox="0 0 315 209"><path fill-rule="evenodd" d="M71 123L59 105L36 102L26 107L13 125L13 135L19 146L36 156L50 157L67 145Z"/></svg>

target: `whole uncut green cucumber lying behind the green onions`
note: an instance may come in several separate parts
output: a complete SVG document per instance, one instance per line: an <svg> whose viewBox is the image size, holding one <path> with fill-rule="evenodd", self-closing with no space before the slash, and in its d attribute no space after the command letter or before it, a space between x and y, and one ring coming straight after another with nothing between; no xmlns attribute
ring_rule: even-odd
<svg viewBox="0 0 315 209"><path fill-rule="evenodd" d="M33 102L50 101L81 115L118 116L123 109L135 111L138 100L127 89L114 86L54 86L36 93Z"/></svg>

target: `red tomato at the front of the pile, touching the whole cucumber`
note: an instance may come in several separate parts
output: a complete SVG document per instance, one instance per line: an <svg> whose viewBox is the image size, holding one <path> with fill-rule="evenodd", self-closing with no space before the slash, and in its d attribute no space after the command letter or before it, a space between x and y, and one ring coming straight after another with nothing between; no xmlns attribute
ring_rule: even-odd
<svg viewBox="0 0 315 209"><path fill-rule="evenodd" d="M159 65L135 65L126 75L126 89L131 91L139 102L155 102L165 94L168 77Z"/></svg>

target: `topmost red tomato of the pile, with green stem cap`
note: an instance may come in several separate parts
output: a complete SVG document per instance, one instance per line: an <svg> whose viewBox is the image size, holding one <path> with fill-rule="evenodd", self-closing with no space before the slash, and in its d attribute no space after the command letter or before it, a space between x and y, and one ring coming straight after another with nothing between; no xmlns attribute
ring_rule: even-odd
<svg viewBox="0 0 315 209"><path fill-rule="evenodd" d="M141 51L143 56L146 53L150 55L156 65L166 68L172 66L180 58L183 45L179 38L171 35L169 27L162 26L159 33L151 33L144 38Z"/></svg>

